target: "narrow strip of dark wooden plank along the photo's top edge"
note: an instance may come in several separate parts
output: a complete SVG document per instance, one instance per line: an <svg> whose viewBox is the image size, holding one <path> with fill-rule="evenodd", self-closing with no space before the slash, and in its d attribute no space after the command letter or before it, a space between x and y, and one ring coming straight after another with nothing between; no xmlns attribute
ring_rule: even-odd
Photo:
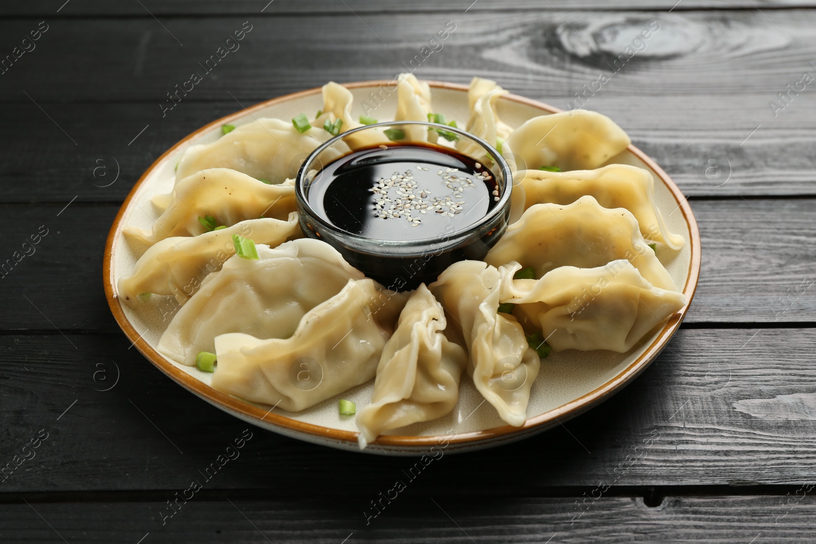
<svg viewBox="0 0 816 544"><path fill-rule="evenodd" d="M67 5L63 5L66 3ZM458 0L457 2L434 2L415 0L410 8L402 2L378 2L377 0L346 0L348 8L337 6L330 0L173 0L172 2L142 2L140 7L133 2L105 2L104 0L33 0L33 2L7 3L0 7L2 16L49 16L71 17L78 15L131 15L144 17L147 13L165 16L184 15L254 15L275 16L282 14L313 13L417 13L420 11L542 11L542 10L588 10L588 11L685 11L690 9L778 9L784 7L814 7L812 0L685 0L679 5L673 0L632 0L625 3L609 3L600 0L552 0L548 3L537 0Z"/></svg>

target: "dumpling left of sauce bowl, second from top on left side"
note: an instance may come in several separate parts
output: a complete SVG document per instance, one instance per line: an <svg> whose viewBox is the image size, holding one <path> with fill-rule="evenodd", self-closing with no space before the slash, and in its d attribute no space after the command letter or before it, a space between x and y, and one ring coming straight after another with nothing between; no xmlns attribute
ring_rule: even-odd
<svg viewBox="0 0 816 544"><path fill-rule="evenodd" d="M197 172L175 186L170 205L153 223L153 232L134 227L125 227L123 232L155 244L169 237L206 232L198 221L205 215L230 227L261 216L287 219L296 207L293 181L268 185L236 170L214 168Z"/></svg>

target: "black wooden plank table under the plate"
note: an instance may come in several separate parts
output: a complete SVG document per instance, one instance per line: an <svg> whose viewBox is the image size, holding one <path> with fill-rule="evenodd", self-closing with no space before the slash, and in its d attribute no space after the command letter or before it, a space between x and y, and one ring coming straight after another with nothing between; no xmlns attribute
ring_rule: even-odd
<svg viewBox="0 0 816 544"><path fill-rule="evenodd" d="M0 75L0 263L28 253L0 277L2 542L813 542L812 0L63 2L0 7L0 54L30 50ZM490 77L563 108L610 74L586 107L672 175L702 232L680 333L601 407L442 458L368 524L410 459L257 428L171 510L247 426L172 383L113 321L101 264L123 197L198 126L329 80L392 77L449 20L419 77ZM166 93L244 21L240 49L162 117ZM721 177L705 175L712 157Z"/></svg>

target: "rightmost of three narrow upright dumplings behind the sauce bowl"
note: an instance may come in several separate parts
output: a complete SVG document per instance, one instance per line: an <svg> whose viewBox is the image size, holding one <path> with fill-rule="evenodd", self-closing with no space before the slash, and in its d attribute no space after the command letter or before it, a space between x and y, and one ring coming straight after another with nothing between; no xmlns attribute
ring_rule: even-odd
<svg viewBox="0 0 816 544"><path fill-rule="evenodd" d="M496 113L496 103L508 91L498 86L490 79L473 77L468 89L468 104L470 117L468 118L468 132L484 139L488 144L496 146L510 135L512 128L499 119ZM481 158L484 153L476 144L460 139L456 143L460 152L471 157Z"/></svg>

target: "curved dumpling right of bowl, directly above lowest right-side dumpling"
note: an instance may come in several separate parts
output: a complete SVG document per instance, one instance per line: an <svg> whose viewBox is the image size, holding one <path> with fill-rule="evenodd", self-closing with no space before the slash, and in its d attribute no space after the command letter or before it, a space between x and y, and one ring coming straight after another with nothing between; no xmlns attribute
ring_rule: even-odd
<svg viewBox="0 0 816 544"><path fill-rule="evenodd" d="M536 277L562 266L594 268L616 259L627 259L655 287L677 290L635 216L623 208L607 210L593 197L566 206L530 206L485 257L496 267L512 261L533 267Z"/></svg>

